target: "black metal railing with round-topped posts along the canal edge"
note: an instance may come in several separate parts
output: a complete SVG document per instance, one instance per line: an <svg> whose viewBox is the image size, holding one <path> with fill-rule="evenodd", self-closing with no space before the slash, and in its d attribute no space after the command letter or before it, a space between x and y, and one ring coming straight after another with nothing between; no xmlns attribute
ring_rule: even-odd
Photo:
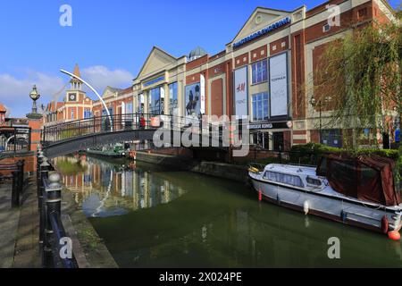
<svg viewBox="0 0 402 286"><path fill-rule="evenodd" d="M38 148L39 242L46 268L78 268L62 222L61 176Z"/></svg>

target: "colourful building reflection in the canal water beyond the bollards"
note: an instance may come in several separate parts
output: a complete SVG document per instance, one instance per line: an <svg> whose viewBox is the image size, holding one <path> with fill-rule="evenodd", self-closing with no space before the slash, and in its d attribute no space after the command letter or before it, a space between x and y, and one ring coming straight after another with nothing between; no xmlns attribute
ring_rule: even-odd
<svg viewBox="0 0 402 286"><path fill-rule="evenodd" d="M128 214L167 204L186 193L157 172L145 171L135 163L116 164L86 156L59 157L54 162L63 174L64 186L91 217Z"/></svg>

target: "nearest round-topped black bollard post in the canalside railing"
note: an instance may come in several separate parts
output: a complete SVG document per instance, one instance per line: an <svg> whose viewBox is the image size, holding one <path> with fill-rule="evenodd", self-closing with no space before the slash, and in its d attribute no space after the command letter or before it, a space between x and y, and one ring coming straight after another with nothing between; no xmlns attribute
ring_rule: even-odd
<svg viewBox="0 0 402 286"><path fill-rule="evenodd" d="M54 230L52 229L51 215L61 218L62 213L62 185L60 184L61 176L53 173L48 178L48 186L46 186L46 236L44 247L44 266L47 268L54 267L52 244L54 242Z"/></svg>

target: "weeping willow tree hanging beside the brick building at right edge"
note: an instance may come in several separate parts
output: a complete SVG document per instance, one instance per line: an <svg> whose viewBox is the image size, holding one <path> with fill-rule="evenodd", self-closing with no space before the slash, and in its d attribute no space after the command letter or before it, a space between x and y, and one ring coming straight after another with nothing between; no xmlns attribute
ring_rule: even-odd
<svg viewBox="0 0 402 286"><path fill-rule="evenodd" d="M375 140L377 132L389 130L389 118L402 114L400 12L398 17L357 27L327 44L315 68L310 92L323 111L331 111L324 125L352 130L346 147L357 147L365 129Z"/></svg>

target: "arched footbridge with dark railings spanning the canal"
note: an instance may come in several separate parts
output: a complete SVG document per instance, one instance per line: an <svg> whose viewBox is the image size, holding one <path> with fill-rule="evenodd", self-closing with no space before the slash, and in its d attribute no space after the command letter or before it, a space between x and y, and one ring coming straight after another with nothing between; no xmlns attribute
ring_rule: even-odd
<svg viewBox="0 0 402 286"><path fill-rule="evenodd" d="M180 117L159 114L116 114L46 125L41 134L41 145L49 158L64 156L89 147L138 140L153 140L155 132L163 144L174 147L214 147L226 149L229 136L224 124L203 122L197 117ZM184 134L186 133L186 134ZM198 146L183 144L185 135ZM206 142L207 144L201 144Z"/></svg>

